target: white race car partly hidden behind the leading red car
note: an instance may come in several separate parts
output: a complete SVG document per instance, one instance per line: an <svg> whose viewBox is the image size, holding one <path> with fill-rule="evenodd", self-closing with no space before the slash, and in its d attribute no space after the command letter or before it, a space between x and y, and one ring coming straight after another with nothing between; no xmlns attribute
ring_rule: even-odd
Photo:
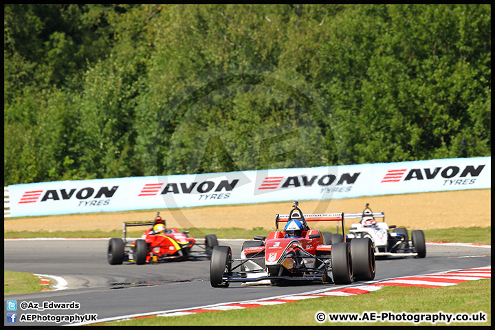
<svg viewBox="0 0 495 330"><path fill-rule="evenodd" d="M382 218L377 222L376 218ZM361 219L359 223L352 223L347 241L369 237L373 242L375 256L426 256L426 244L423 230L412 230L409 240L406 228L396 228L395 225L387 225L384 212L372 212L369 203L362 213L345 213L345 219ZM393 229L393 232L390 230Z"/></svg>

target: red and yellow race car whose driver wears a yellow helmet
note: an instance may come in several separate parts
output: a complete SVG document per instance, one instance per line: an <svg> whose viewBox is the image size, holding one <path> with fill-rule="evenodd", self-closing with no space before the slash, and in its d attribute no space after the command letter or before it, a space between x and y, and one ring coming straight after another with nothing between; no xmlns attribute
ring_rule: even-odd
<svg viewBox="0 0 495 330"><path fill-rule="evenodd" d="M141 239L126 241L126 228L151 225L144 231ZM204 243L197 243L188 236L188 231L179 232L177 229L166 229L166 223L159 216L155 221L124 222L123 239L110 239L108 247L108 261L110 265L121 265L130 261L137 265L144 263L159 263L163 261L181 261L197 258L210 259L212 249L218 245L217 236L206 235ZM193 246L202 248L204 252L191 252Z"/></svg>

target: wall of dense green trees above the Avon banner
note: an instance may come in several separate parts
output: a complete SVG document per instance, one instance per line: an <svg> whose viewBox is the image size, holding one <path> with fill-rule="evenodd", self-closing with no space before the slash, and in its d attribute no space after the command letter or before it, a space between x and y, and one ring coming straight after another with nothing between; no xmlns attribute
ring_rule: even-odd
<svg viewBox="0 0 495 330"><path fill-rule="evenodd" d="M491 155L491 5L4 5L4 181Z"/></svg>

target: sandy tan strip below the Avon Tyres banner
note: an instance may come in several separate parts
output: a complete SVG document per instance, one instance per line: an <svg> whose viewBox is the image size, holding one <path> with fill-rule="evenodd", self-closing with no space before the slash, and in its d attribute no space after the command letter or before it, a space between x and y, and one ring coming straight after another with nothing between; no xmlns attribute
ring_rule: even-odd
<svg viewBox="0 0 495 330"><path fill-rule="evenodd" d="M366 203L375 212L385 212L389 225L414 229L488 227L491 225L491 190L459 190L421 194L386 195L300 201L305 213L361 212ZM4 231L122 230L123 221L154 219L156 211L169 228L244 228L274 227L275 214L288 213L292 203L261 203L236 206L210 206L176 210L102 212L4 219Z"/></svg>

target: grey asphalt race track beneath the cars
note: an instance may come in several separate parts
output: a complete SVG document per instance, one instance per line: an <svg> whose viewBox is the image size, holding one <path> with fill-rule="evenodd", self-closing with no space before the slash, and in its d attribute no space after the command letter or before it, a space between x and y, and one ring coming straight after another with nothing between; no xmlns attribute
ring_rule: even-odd
<svg viewBox="0 0 495 330"><path fill-rule="evenodd" d="M219 240L230 245L239 258L243 241ZM109 265L107 239L33 239L4 241L4 269L61 276L67 289L4 296L21 302L55 302L80 304L79 309L21 310L17 314L98 314L98 320L154 311L182 310L215 303L255 300L300 294L336 285L231 284L226 289L210 286L208 260L181 261L154 265ZM426 245L425 259L387 259L377 261L376 280L417 276L448 270L470 269L491 265L491 248L476 246ZM355 285L362 285L358 282ZM4 325L8 324L6 313ZM64 325L67 322L58 323ZM15 325L56 325L55 322L17 322Z"/></svg>

